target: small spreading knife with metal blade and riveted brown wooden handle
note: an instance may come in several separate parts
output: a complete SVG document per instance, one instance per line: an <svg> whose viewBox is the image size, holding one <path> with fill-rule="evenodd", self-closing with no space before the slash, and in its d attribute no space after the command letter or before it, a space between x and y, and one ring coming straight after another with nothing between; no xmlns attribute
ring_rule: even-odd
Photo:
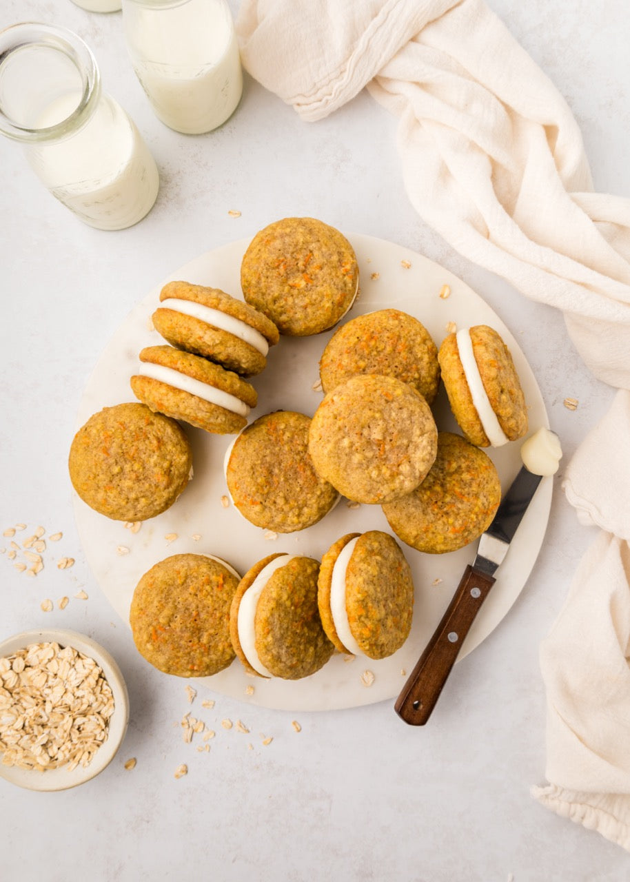
<svg viewBox="0 0 630 882"><path fill-rule="evenodd" d="M424 726L431 716L541 478L521 467L490 527L481 535L473 564L466 567L441 622L396 699L394 710L409 725Z"/></svg>

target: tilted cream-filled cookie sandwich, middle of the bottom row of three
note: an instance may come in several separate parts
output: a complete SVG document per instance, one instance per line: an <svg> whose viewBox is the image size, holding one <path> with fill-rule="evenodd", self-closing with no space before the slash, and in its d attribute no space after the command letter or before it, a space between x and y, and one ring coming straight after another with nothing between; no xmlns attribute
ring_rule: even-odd
<svg viewBox="0 0 630 882"><path fill-rule="evenodd" d="M297 680L314 674L333 654L319 618L318 573L318 561L287 554L265 557L245 573L229 629L250 674Z"/></svg>

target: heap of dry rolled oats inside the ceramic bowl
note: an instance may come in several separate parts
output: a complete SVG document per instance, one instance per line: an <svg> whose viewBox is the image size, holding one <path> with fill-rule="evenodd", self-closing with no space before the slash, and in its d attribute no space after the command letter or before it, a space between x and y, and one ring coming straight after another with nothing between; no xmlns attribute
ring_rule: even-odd
<svg viewBox="0 0 630 882"><path fill-rule="evenodd" d="M0 677L3 764L37 771L88 766L114 713L94 659L58 643L33 643L0 659Z"/></svg>

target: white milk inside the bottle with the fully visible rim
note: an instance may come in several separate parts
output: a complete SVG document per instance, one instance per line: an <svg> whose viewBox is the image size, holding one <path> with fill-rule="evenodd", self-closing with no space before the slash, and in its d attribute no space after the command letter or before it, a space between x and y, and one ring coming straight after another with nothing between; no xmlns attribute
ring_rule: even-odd
<svg viewBox="0 0 630 882"><path fill-rule="evenodd" d="M79 95L49 105L38 127L69 116ZM63 140L31 146L26 152L37 176L81 221L99 229L123 229L140 221L154 205L158 170L138 129L108 94L82 129Z"/></svg>

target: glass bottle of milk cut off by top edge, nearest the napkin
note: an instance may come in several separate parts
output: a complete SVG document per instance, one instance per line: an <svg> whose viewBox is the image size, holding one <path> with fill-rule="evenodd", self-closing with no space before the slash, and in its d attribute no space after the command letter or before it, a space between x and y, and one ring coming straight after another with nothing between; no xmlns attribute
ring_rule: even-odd
<svg viewBox="0 0 630 882"><path fill-rule="evenodd" d="M243 92L226 0L124 0L131 63L162 123L187 135L212 131Z"/></svg>

